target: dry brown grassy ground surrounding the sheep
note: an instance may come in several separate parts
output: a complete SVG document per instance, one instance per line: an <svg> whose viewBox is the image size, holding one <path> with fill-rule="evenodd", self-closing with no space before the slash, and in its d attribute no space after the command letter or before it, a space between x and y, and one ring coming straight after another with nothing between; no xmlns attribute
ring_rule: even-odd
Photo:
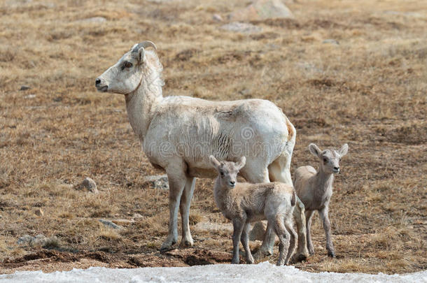
<svg viewBox="0 0 427 283"><path fill-rule="evenodd" d="M0 273L230 262L230 230L197 228L230 225L209 179L192 201L195 246L158 252L168 192L144 178L162 172L141 152L124 97L95 91L144 40L158 46L165 96L280 106L297 129L292 171L317 166L309 143L349 144L330 206L337 258L316 214L316 254L297 268L427 269L426 1L295 0L294 19L253 21L254 33L221 29L247 1L116 2L0 1ZM85 177L99 194L78 189ZM115 230L99 219L130 221ZM26 234L48 241L18 244Z"/></svg>

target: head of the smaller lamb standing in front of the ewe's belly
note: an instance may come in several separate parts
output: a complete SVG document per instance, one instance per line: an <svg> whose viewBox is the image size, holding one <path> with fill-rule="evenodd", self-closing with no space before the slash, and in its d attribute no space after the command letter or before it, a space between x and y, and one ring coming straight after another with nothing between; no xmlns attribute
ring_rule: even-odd
<svg viewBox="0 0 427 283"><path fill-rule="evenodd" d="M246 164L246 157L241 157L239 162L230 162L230 161L218 161L211 155L209 157L212 166L218 170L218 180L221 182L221 186L229 187L233 189L236 187L237 183L237 173L239 170L243 168L244 164Z"/></svg>

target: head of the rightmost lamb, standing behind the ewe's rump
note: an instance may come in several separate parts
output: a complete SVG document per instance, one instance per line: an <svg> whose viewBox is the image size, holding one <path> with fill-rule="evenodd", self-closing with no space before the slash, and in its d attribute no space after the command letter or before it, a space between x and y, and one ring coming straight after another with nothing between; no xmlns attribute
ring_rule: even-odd
<svg viewBox="0 0 427 283"><path fill-rule="evenodd" d="M349 150L349 145L344 144L339 150L321 150L314 143L310 143L311 154L320 159L321 168L326 173L339 173L339 161Z"/></svg>

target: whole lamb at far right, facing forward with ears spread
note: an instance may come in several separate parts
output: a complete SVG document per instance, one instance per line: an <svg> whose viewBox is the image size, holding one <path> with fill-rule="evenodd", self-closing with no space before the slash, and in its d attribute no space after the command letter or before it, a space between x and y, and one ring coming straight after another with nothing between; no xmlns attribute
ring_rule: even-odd
<svg viewBox="0 0 427 283"><path fill-rule="evenodd" d="M305 206L305 219L307 224L307 248L310 255L314 254L313 243L311 242L311 217L314 210L318 210L323 228L326 234L326 249L328 256L335 257L334 245L330 238L330 222L328 217L330 197L332 196L332 183L334 173L339 173L339 161L347 154L349 146L347 144L337 150L321 150L317 145L311 143L309 151L320 160L318 171L311 166L301 166L295 171L293 184L297 191L297 196Z"/></svg>

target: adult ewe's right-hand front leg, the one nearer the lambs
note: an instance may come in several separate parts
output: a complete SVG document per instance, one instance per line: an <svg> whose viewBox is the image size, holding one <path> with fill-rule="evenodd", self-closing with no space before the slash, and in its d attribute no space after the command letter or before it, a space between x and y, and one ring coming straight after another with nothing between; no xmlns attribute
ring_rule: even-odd
<svg viewBox="0 0 427 283"><path fill-rule="evenodd" d="M195 177L187 177L186 185L184 187L183 194L181 196L181 203L179 204L179 210L181 212L182 221L182 239L181 247L192 247L193 238L190 233L190 225L188 224L188 215L190 214L190 203L193 198L193 191L195 188Z"/></svg>

